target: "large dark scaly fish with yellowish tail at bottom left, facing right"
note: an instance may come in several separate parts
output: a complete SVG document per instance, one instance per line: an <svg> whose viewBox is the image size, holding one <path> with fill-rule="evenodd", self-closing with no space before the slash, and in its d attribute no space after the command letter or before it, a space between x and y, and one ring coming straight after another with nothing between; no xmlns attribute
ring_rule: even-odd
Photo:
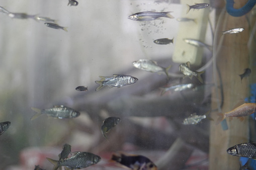
<svg viewBox="0 0 256 170"><path fill-rule="evenodd" d="M63 162L46 158L54 164L53 170L58 169L58 167L61 169L61 166L66 166L65 169L81 169L96 164L101 160L100 156L90 152L72 152L72 155L64 159Z"/></svg>

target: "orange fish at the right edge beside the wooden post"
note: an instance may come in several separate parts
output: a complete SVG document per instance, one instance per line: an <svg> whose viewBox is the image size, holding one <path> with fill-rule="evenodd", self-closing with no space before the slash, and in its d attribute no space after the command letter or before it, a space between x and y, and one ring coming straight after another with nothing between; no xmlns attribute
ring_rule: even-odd
<svg viewBox="0 0 256 170"><path fill-rule="evenodd" d="M219 113L219 118L217 119L217 123L219 124L222 120L224 120L227 117L230 117L231 119L233 117L237 117L240 119L240 121L243 121L243 116L248 116L256 111L256 103L244 103L235 109L226 112L226 113Z"/></svg>

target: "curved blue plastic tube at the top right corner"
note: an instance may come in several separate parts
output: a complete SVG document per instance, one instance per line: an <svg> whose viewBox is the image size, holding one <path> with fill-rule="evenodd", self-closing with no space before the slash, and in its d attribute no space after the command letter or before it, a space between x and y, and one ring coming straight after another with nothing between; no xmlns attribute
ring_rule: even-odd
<svg viewBox="0 0 256 170"><path fill-rule="evenodd" d="M227 13L233 17L241 17L247 14L256 4L256 0L248 0L247 3L240 9L234 9L234 1L226 0L226 10Z"/></svg>

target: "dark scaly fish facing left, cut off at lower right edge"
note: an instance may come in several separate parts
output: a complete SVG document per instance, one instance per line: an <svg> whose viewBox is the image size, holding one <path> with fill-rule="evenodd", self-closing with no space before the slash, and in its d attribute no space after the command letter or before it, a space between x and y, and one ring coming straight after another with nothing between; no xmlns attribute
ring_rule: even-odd
<svg viewBox="0 0 256 170"><path fill-rule="evenodd" d="M227 149L233 156L249 157L256 159L256 142L240 143Z"/></svg>

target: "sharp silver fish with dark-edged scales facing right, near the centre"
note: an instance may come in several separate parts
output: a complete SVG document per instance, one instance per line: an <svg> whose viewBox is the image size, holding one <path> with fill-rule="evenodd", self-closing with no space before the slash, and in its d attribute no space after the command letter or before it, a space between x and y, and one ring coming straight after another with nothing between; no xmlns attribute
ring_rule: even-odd
<svg viewBox="0 0 256 170"><path fill-rule="evenodd" d="M136 77L132 77L129 75L120 75L120 74L113 74L113 77L110 79L107 77L108 80L106 81L95 81L95 83L99 84L100 86L97 87L96 91L99 91L104 86L108 86L109 88L112 87L122 87L129 84L136 83L138 79Z"/></svg>

